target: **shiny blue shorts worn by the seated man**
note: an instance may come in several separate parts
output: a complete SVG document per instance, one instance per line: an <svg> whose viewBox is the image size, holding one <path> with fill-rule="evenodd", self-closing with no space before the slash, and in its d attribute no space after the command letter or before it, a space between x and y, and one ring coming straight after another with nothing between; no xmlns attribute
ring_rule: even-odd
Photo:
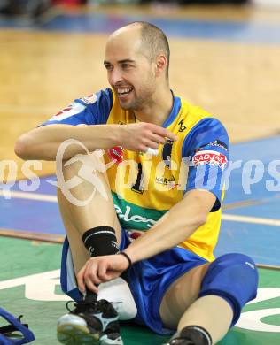
<svg viewBox="0 0 280 345"><path fill-rule="evenodd" d="M121 246L123 250L130 241L125 230L122 230ZM167 288L192 268L206 264L206 260L183 248L175 247L146 260L132 265L122 276L128 281L135 299L136 323L148 326L157 334L172 334L174 330L164 328L159 316L159 307ZM63 246L61 265L62 290L75 300L81 299L77 288L69 244L66 239Z"/></svg>

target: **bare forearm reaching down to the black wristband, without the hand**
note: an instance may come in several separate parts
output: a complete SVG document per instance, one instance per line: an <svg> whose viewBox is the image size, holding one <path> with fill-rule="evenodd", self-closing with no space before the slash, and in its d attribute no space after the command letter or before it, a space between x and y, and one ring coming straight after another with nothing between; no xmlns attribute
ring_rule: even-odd
<svg viewBox="0 0 280 345"><path fill-rule="evenodd" d="M124 251L134 263L175 247L205 224L214 202L214 194L206 190L191 190Z"/></svg>

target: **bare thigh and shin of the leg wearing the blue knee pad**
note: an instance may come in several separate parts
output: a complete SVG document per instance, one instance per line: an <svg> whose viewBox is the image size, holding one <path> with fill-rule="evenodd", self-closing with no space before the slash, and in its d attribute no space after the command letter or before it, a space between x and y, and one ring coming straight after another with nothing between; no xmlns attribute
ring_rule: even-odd
<svg viewBox="0 0 280 345"><path fill-rule="evenodd" d="M160 317L165 326L179 331L185 326L201 326L216 343L229 331L233 311L219 296L198 298L208 265L195 267L171 285L160 305Z"/></svg>

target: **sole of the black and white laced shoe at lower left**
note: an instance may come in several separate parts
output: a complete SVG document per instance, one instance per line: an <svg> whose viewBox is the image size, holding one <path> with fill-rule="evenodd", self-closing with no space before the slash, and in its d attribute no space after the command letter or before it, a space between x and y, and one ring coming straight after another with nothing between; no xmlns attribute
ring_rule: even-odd
<svg viewBox="0 0 280 345"><path fill-rule="evenodd" d="M82 325L63 324L57 328L58 341L66 345L99 344L99 334L92 334L89 328Z"/></svg>

